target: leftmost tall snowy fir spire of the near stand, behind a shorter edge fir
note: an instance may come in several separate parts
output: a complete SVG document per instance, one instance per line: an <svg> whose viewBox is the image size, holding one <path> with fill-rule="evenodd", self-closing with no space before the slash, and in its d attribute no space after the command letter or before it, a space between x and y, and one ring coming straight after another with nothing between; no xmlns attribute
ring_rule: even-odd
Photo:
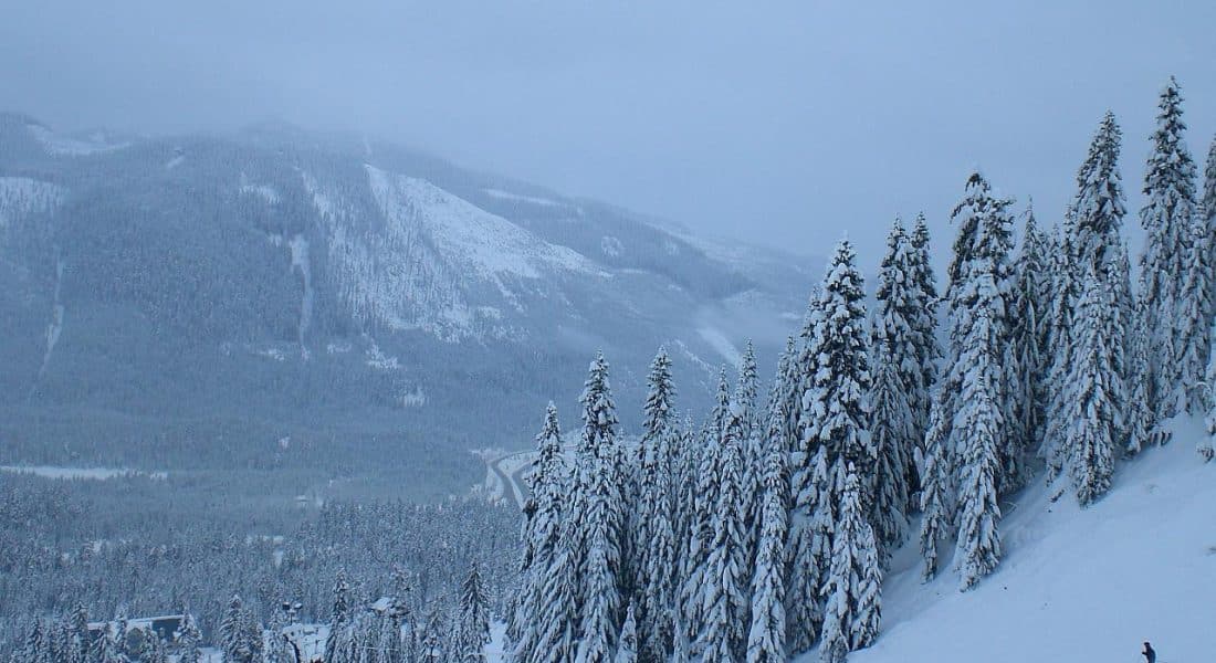
<svg viewBox="0 0 1216 663"><path fill-rule="evenodd" d="M621 619L621 543L625 513L621 495L617 406L608 384L608 363L598 354L582 392L582 438L578 511L584 557L581 624L576 658L580 663L612 659Z"/></svg>

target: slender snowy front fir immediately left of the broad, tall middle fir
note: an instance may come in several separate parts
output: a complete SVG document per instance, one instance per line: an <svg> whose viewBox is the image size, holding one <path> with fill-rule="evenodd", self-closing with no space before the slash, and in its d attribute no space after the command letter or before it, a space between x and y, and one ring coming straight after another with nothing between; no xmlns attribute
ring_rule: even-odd
<svg viewBox="0 0 1216 663"><path fill-rule="evenodd" d="M751 574L751 625L747 663L786 663L786 509L788 477L781 437L781 404L770 403L764 461L760 536ZM776 411L772 411L776 410Z"/></svg>

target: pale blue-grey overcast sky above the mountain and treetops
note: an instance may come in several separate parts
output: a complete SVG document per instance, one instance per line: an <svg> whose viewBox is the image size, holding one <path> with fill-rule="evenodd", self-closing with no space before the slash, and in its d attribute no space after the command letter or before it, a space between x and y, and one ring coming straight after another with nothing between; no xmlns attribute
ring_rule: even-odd
<svg viewBox="0 0 1216 663"><path fill-rule="evenodd" d="M354 129L867 266L976 165L1055 220L1107 108L1135 214L1170 74L1197 158L1216 131L1211 0L10 5L0 108L56 129Z"/></svg>

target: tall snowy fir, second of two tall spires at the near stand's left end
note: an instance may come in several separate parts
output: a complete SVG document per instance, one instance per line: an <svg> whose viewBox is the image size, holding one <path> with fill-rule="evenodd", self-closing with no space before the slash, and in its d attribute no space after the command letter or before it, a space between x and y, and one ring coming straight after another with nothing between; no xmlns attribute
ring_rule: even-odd
<svg viewBox="0 0 1216 663"><path fill-rule="evenodd" d="M637 624L637 656L642 661L664 661L671 651L676 588L676 499L679 483L680 432L675 422L675 384L671 359L665 349L651 363L647 378L641 440L642 501L637 512L644 526L635 536L644 544Z"/></svg>

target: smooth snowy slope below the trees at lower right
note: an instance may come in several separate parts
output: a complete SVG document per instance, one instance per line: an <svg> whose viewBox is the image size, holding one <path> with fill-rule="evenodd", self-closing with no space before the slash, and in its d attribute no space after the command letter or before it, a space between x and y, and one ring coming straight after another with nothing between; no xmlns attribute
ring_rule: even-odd
<svg viewBox="0 0 1216 663"><path fill-rule="evenodd" d="M1036 485L1006 507L1000 569L968 592L950 572L922 584L914 546L884 586L883 635L852 663L1216 661L1216 463L1197 422L1126 463L1081 510Z"/></svg>

